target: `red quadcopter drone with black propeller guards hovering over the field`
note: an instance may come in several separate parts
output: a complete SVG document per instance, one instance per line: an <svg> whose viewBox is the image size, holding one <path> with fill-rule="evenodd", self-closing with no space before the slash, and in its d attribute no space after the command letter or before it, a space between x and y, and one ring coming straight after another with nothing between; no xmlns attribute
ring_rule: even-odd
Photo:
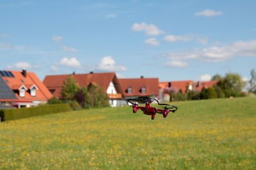
<svg viewBox="0 0 256 170"><path fill-rule="evenodd" d="M150 103L156 101L158 105L165 106L164 109L154 108L150 106ZM145 115L151 115L151 119L154 120L156 117L156 113L163 115L164 118L168 116L168 113L172 111L173 113L178 110L177 107L172 106L170 104L162 104L157 101L157 99L153 99L150 97L138 97L136 99L127 99L127 104L132 106L133 113L136 113L138 110L143 111ZM139 106L139 103L145 103L145 106Z"/></svg>

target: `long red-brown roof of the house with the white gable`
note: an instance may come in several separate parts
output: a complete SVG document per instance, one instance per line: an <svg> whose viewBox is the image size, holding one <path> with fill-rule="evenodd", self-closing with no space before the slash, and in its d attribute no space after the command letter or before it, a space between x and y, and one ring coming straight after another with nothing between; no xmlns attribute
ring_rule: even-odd
<svg viewBox="0 0 256 170"><path fill-rule="evenodd" d="M120 83L116 78L115 73L91 73L91 74L64 74L64 75L51 75L45 76L44 84L52 91L54 97L61 97L61 86L63 82L68 78L68 76L72 76L74 80L78 83L80 87L88 87L90 83L96 83L100 87L104 89L106 92L109 83L113 81L115 84L116 90L118 93L122 93L122 88L120 87Z"/></svg>

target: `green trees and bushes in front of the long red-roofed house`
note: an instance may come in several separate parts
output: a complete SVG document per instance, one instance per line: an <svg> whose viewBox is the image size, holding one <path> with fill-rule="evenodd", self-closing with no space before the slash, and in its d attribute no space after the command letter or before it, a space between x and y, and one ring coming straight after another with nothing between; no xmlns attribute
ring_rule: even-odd
<svg viewBox="0 0 256 170"><path fill-rule="evenodd" d="M109 106L108 97L104 89L96 83L88 87L79 87L72 76L69 76L61 86L61 99L52 97L48 104L68 103L73 110L81 108L99 108Z"/></svg>

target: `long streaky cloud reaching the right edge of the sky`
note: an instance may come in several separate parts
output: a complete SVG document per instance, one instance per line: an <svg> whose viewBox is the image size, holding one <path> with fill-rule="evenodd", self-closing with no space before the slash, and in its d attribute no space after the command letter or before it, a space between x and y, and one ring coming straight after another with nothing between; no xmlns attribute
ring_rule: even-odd
<svg viewBox="0 0 256 170"><path fill-rule="evenodd" d="M219 62L236 56L256 57L256 40L237 41L230 45L211 46L191 52L167 53L165 56L172 60L200 59L208 62Z"/></svg>

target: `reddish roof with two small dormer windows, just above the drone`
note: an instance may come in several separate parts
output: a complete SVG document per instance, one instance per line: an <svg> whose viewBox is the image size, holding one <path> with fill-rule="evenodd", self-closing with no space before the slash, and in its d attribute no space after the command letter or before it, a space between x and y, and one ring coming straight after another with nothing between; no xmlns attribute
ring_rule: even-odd
<svg viewBox="0 0 256 170"><path fill-rule="evenodd" d="M122 86L124 96L158 96L158 78L120 78L120 84ZM132 93L128 94L127 89L131 87ZM141 93L141 88L145 87L146 92Z"/></svg>

